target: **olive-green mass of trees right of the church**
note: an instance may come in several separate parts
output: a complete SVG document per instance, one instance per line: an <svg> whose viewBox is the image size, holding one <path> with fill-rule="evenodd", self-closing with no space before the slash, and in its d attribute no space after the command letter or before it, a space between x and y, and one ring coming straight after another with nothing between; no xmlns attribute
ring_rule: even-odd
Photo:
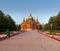
<svg viewBox="0 0 60 51"><path fill-rule="evenodd" d="M51 26L53 30L60 30L60 12L57 16L50 17L48 23L44 26L44 29L51 30Z"/></svg>

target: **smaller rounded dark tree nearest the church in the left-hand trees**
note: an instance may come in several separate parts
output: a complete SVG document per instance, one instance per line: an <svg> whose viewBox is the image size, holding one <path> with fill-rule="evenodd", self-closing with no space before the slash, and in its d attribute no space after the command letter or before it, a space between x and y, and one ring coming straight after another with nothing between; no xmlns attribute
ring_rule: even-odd
<svg viewBox="0 0 60 51"><path fill-rule="evenodd" d="M6 17L7 17L7 20L8 20L7 28L10 29L10 30L16 30L17 27L16 27L16 24L15 24L15 21L11 18L10 15L6 15Z"/></svg>

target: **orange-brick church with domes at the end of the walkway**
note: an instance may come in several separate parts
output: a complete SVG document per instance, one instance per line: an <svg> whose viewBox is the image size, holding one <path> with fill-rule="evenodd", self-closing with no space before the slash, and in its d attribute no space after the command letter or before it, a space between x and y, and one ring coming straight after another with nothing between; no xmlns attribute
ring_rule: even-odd
<svg viewBox="0 0 60 51"><path fill-rule="evenodd" d="M38 22L38 18L34 19L32 14L28 16L27 19L23 19L21 23L21 30L39 30L40 23Z"/></svg>

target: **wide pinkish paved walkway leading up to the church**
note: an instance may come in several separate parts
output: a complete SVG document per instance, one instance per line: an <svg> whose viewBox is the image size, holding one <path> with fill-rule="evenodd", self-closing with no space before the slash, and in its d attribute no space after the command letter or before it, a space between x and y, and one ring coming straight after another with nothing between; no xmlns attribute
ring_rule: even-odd
<svg viewBox="0 0 60 51"><path fill-rule="evenodd" d="M27 31L0 41L0 51L60 51L60 42L35 31Z"/></svg>

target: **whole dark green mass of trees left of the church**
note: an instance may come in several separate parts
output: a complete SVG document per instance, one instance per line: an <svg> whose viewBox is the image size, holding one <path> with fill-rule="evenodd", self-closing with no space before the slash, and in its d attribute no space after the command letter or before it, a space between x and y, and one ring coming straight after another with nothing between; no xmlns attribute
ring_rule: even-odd
<svg viewBox="0 0 60 51"><path fill-rule="evenodd" d="M13 31L17 29L17 26L9 14L5 15L0 10L0 32L6 31L6 29Z"/></svg>

